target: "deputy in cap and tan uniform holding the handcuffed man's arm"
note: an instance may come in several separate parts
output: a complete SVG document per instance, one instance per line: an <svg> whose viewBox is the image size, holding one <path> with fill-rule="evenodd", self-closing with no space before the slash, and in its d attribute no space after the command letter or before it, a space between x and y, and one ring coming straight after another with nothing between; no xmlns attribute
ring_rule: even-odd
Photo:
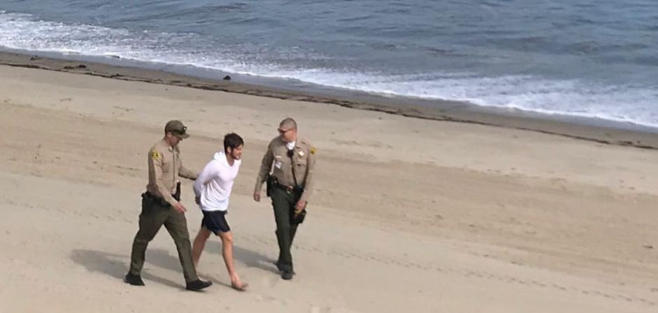
<svg viewBox="0 0 658 313"><path fill-rule="evenodd" d="M142 194L142 213L139 231L133 241L130 270L126 282L135 286L144 286L141 272L144 265L146 247L164 227L173 238L178 250L178 258L183 266L186 288L198 291L208 287L212 282L199 280L192 262L192 250L187 230L185 212L187 209L180 202L180 181L178 176L196 179L198 173L183 166L178 143L189 137L187 127L180 121L169 121L165 126L165 136L149 150L149 183Z"/></svg>

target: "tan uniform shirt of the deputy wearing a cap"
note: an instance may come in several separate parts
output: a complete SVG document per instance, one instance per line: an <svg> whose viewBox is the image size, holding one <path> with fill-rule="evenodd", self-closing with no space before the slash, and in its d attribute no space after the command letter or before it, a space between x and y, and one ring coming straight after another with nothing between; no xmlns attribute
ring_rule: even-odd
<svg viewBox="0 0 658 313"><path fill-rule="evenodd" d="M171 194L176 192L178 176L194 180L198 173L183 167L178 146L173 148L164 139L156 142L149 150L149 184L146 190L174 205L178 201Z"/></svg>

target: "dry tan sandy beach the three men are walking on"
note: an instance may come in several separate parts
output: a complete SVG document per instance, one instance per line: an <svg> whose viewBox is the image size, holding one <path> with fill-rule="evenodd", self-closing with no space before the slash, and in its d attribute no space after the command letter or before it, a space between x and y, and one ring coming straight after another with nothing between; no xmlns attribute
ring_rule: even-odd
<svg viewBox="0 0 658 313"><path fill-rule="evenodd" d="M52 64L0 66L2 313L658 310L657 135L469 112L418 119ZM270 204L251 199L287 116L319 151L290 282L272 265ZM228 287L216 238L199 268L214 286L185 291L163 230L147 286L122 281L148 148L170 119L189 126L193 169L226 132L246 141L228 215L246 293ZM196 234L189 181L183 201Z"/></svg>

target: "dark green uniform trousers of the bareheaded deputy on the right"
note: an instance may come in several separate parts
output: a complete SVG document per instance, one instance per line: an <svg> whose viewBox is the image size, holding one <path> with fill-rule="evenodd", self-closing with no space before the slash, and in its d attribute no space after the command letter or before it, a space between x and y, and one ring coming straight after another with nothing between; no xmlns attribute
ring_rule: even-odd
<svg viewBox="0 0 658 313"><path fill-rule="evenodd" d="M301 195L302 192L286 192L281 188L272 188L272 194L270 194L277 222L276 234L279 242L277 264L281 270L293 271L293 256L290 249L298 224L291 222L291 217L295 213L295 204Z"/></svg>

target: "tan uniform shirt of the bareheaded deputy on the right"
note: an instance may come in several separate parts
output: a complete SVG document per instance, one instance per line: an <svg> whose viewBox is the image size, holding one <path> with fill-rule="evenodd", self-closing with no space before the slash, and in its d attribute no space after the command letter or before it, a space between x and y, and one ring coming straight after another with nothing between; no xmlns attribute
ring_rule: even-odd
<svg viewBox="0 0 658 313"><path fill-rule="evenodd" d="M255 192L260 193L263 183L268 179L270 169L279 184L286 186L304 186L300 200L308 201L313 190L313 169L315 167L315 148L306 139L297 139L293 157L288 157L286 142L281 137L272 139L268 151L263 155L261 171L258 172ZM295 170L293 176L293 169ZM295 182L295 178L297 181Z"/></svg>

